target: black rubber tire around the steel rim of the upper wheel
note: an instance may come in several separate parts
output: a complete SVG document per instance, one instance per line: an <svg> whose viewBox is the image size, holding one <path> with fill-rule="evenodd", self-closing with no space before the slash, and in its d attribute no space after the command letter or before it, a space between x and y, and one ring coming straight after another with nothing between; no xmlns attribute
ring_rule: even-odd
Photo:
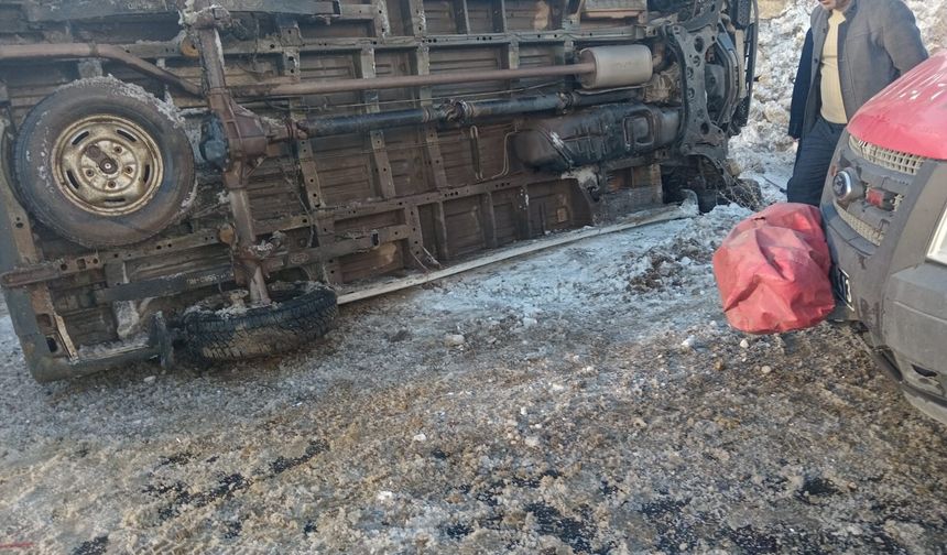
<svg viewBox="0 0 947 555"><path fill-rule="evenodd" d="M145 142L155 146L153 160L161 162L161 177L152 177L141 206L129 207L127 214L83 208L63 191L68 187L65 179L57 177L63 175L63 162L53 160L55 146L76 122L96 117L138 126L148 137ZM36 105L19 129L13 166L17 193L26 210L59 236L89 248L131 244L154 236L186 214L196 186L194 151L181 118L141 87L111 77L77 80ZM131 173L132 167L124 170ZM142 172L142 182L148 181L148 171ZM129 182L138 178L134 174ZM72 186L79 191L74 178Z"/></svg>

